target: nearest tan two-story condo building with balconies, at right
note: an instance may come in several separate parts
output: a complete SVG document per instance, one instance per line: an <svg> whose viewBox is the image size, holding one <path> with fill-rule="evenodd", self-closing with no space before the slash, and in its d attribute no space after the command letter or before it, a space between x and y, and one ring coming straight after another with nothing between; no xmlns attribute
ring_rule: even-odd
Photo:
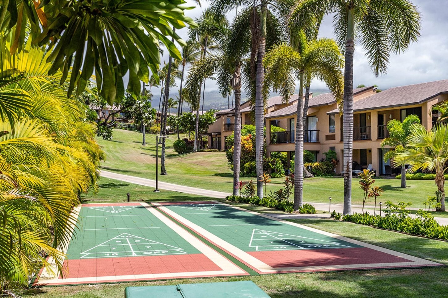
<svg viewBox="0 0 448 298"><path fill-rule="evenodd" d="M426 129L431 129L438 114L433 114L433 105L448 100L448 80L413 84L389 88L376 92L373 86L353 90L353 162L363 168L371 164L377 174L384 174L390 161L384 162L383 156L391 148L381 149L381 141L388 137L386 124L390 119L403 119L416 114ZM271 133L266 127L267 155L271 152L294 152L294 123L297 102L283 109L277 109L265 116L266 121L276 121L285 132ZM343 131L342 115L331 93L320 94L310 99L304 128L305 150L314 153L316 160L323 158L323 152L336 151L340 160L336 172L342 170Z"/></svg>

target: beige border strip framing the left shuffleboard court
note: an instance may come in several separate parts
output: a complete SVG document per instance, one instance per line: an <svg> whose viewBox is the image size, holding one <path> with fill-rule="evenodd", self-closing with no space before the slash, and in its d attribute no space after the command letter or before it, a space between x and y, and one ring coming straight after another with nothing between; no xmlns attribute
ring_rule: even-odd
<svg viewBox="0 0 448 298"><path fill-rule="evenodd" d="M97 203L95 203L97 204ZM107 204L107 203L105 203ZM47 272L46 269L43 270L39 277L39 281L34 285L63 285L63 284L78 284L78 283L96 283L96 282L118 282L118 281L132 281L132 280L151 280L151 279L166 279L166 278L176 278L176 277L211 277L211 276L237 276L237 275L248 275L244 270L239 268L237 265L233 264L230 260L226 259L220 253L216 252L205 243L201 242L199 239L191 235L189 232L185 231L183 228L178 226L175 222L167 218L164 214L148 203L140 202L140 205L144 206L146 210L155 215L156 218L160 219L164 224L176 232L179 236L190 243L194 248L201 252L204 256L207 256L213 263L215 263L221 270L215 271L197 271L197 272L178 272L178 273L157 273L157 274L135 274L135 275L117 275L117 276L101 276L101 277L73 277L73 278L59 278L51 275L43 275ZM77 212L79 216L79 211L81 206L76 207L73 212ZM71 235L70 235L71 237ZM64 253L67 252L67 248L64 249Z"/></svg>

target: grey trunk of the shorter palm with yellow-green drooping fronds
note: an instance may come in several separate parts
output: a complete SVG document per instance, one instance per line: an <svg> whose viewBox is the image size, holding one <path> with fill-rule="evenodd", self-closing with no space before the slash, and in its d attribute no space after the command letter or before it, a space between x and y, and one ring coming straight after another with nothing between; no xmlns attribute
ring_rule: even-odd
<svg viewBox="0 0 448 298"><path fill-rule="evenodd" d="M299 78L297 100L296 143L294 153L294 210L303 205L303 73Z"/></svg>

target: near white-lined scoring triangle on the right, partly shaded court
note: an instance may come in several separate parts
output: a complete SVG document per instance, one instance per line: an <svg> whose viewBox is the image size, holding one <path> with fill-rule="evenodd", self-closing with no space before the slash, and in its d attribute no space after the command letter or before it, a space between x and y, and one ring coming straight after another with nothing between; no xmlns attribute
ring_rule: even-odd
<svg viewBox="0 0 448 298"><path fill-rule="evenodd" d="M349 248L351 246L338 242L254 229L250 237L249 247L254 247L257 251L268 251L283 249Z"/></svg>

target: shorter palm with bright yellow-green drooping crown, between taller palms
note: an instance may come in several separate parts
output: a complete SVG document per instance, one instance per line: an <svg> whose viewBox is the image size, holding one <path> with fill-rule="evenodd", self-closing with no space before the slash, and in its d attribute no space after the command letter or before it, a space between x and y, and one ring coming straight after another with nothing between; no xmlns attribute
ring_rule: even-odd
<svg viewBox="0 0 448 298"><path fill-rule="evenodd" d="M336 101L342 100L343 77L340 67L343 58L336 42L328 38L308 41L304 31L297 34L295 46L279 44L266 53L267 68L265 88L280 91L284 102L295 91L295 78L299 79L297 121L294 155L294 209L303 205L303 88L306 78L315 76L323 80L334 94Z"/></svg>

